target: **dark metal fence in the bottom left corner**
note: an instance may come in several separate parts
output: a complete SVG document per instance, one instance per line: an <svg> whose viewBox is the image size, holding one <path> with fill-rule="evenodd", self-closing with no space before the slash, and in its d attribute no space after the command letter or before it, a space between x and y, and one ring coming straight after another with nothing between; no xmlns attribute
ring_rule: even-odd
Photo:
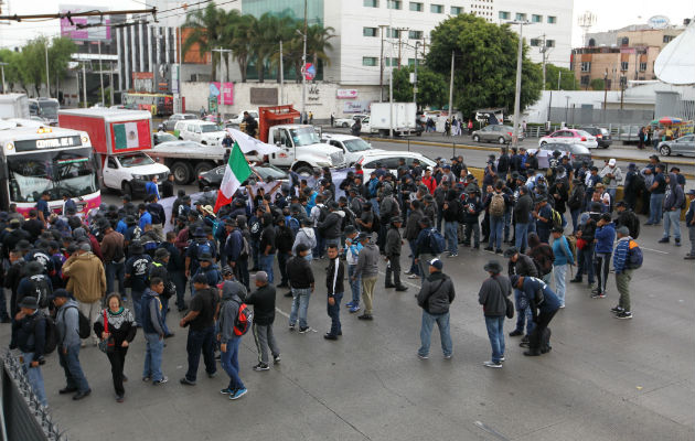
<svg viewBox="0 0 695 441"><path fill-rule="evenodd" d="M39 402L19 358L7 351L0 362L0 440L67 441Z"/></svg>

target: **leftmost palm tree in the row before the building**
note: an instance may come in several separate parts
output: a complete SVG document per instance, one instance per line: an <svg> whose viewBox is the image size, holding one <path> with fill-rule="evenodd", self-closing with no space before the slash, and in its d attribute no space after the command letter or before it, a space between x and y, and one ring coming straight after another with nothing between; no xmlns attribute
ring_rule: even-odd
<svg viewBox="0 0 695 441"><path fill-rule="evenodd" d="M205 9L189 12L185 18L183 28L191 29L191 33L185 37L182 53L185 55L194 44L199 46L201 57L204 57L211 50L218 46L227 22L227 13L215 3L209 3ZM212 71L211 78L214 82L217 78L217 60L220 54L212 53Z"/></svg>

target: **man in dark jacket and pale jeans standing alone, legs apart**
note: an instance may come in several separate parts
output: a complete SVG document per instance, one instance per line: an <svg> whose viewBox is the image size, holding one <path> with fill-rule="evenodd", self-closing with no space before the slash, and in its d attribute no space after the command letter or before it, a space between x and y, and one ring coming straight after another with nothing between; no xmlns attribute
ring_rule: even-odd
<svg viewBox="0 0 695 441"><path fill-rule="evenodd" d="M417 356L421 359L429 358L432 327L437 322L443 357L450 359L453 355L453 344L449 332L449 306L456 297L453 282L449 276L441 272L443 268L441 260L435 258L428 265L429 277L423 280L420 292L416 297L417 304L423 309L420 348L417 351Z"/></svg>

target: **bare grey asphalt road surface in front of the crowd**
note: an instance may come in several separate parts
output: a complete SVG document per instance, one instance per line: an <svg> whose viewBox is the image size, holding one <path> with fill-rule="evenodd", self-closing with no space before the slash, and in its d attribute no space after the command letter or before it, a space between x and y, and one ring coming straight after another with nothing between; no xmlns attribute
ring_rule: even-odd
<svg viewBox="0 0 695 441"><path fill-rule="evenodd" d="M209 379L201 367L195 387L179 384L186 369L186 331L173 312L169 323L177 335L167 341L163 356L169 384L139 380L145 344L138 335L126 362L125 404L114 400L106 356L92 346L81 353L92 396L75 402L57 394L65 383L53 354L42 368L49 402L70 439L82 441L693 440L693 263L683 260L686 247L656 244L660 236L661 227L645 227L640 236L644 266L632 280L633 320L609 312L617 303L612 275L602 300L569 284L567 309L550 323L553 351L527 358L518 340L507 337L502 369L482 366L490 345L477 299L483 265L502 259L462 248L458 258L445 259L457 290L450 361L442 359L438 332L430 358L417 358L420 310L413 295L419 283L408 280L403 293L383 289L384 262L375 320L359 321L341 308L343 336L324 341L330 321L323 260L312 263L314 332L287 330L290 300L281 290L275 333L282 362L253 372L256 349L246 335L239 363L249 392L239 401L220 395L227 383L221 369ZM507 320L505 332L512 329ZM9 333L9 325L0 326L6 344Z"/></svg>

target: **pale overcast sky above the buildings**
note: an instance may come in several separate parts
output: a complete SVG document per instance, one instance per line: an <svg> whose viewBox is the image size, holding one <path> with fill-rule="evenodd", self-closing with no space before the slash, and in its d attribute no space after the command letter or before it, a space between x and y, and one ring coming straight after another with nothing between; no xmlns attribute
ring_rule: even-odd
<svg viewBox="0 0 695 441"><path fill-rule="evenodd" d="M189 3L194 1L189 0ZM145 9L145 0L0 0L0 3L2 3L3 15L8 12L8 3L12 14L57 13L58 4L62 3L87 4L111 10ZM591 32L645 23L653 15L665 15L672 24L680 24L685 18L695 18L695 0L670 0L665 6L654 0L575 0L573 45L579 45L581 42L581 29L577 25L577 18L585 11L591 11L597 15L597 22ZM0 23L0 46L21 46L28 40L39 35L58 34L58 20L40 23Z"/></svg>

